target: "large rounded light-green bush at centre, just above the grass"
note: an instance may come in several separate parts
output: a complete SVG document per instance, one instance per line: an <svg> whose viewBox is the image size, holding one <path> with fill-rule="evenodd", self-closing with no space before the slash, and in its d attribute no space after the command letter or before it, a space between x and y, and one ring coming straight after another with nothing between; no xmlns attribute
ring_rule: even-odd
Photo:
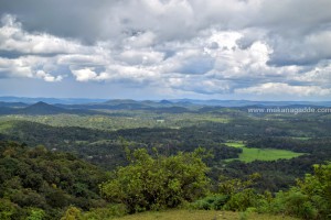
<svg viewBox="0 0 331 220"><path fill-rule="evenodd" d="M145 148L128 155L130 165L119 167L113 179L100 186L102 194L113 202L125 204L129 212L174 208L205 195L207 167L201 148L153 158Z"/></svg>

